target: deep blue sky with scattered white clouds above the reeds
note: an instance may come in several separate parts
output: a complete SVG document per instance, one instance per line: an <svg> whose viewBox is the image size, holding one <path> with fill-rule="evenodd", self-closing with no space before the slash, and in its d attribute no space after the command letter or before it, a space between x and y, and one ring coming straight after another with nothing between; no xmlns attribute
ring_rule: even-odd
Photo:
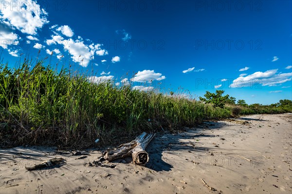
<svg viewBox="0 0 292 194"><path fill-rule="evenodd" d="M220 89L249 104L292 99L290 0L0 0L3 61L39 49L95 82L193 97Z"/></svg>

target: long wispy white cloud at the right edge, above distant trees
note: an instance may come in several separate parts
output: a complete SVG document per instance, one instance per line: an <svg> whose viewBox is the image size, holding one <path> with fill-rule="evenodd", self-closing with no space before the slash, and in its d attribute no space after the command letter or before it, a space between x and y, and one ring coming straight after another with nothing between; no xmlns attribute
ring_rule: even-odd
<svg viewBox="0 0 292 194"><path fill-rule="evenodd" d="M239 77L230 84L230 87L247 87L254 84L262 86L275 86L279 83L285 83L292 80L292 73L277 73L278 69L272 69L265 72L255 72L246 77Z"/></svg>

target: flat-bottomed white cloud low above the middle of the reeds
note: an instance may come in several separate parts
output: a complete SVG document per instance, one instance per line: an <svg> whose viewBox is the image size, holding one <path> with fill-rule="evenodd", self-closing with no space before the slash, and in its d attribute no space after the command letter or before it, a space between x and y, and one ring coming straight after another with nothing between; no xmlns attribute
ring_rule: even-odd
<svg viewBox="0 0 292 194"><path fill-rule="evenodd" d="M165 76L163 76L161 73L155 73L154 70L143 70L143 71L138 71L135 77L131 78L131 81L151 82L154 80L161 81L164 79L165 79Z"/></svg>

